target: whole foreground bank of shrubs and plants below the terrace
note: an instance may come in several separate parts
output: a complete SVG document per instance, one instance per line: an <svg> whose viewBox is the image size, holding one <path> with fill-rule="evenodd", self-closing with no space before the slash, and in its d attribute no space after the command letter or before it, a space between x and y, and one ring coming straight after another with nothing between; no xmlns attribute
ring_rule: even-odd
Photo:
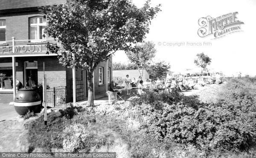
<svg viewBox="0 0 256 158"><path fill-rule="evenodd" d="M33 147L64 148L70 152L116 149L131 158L245 157L255 154L255 80L235 79L223 85L215 103L177 91L146 94L137 104L101 108L69 107L29 124ZM248 154L244 154L247 151ZM239 156L238 156L239 157Z"/></svg>

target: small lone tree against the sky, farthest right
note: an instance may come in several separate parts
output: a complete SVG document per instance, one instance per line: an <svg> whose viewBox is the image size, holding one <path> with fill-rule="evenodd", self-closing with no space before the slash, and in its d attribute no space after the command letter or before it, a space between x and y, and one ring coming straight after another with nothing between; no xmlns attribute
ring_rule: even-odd
<svg viewBox="0 0 256 158"><path fill-rule="evenodd" d="M201 74L203 76L203 71L207 71L207 65L211 64L212 59L204 53L199 53L196 56L197 59L194 60L194 63L197 67L201 68Z"/></svg>

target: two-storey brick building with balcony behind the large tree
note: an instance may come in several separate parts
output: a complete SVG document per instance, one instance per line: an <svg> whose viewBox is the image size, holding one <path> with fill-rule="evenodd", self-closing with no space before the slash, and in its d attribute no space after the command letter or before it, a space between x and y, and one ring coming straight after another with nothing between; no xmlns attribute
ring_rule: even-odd
<svg viewBox="0 0 256 158"><path fill-rule="evenodd" d="M46 54L45 44L52 38L43 36L47 22L38 11L38 6L63 3L65 0L0 0L0 103L13 102L14 72L23 86L29 76L35 84L42 83L45 72L49 87L66 87L67 102L73 100L73 70L58 64L57 54ZM112 59L98 65L94 71L95 95L108 90L111 71ZM76 101L87 97L86 74L76 70Z"/></svg>

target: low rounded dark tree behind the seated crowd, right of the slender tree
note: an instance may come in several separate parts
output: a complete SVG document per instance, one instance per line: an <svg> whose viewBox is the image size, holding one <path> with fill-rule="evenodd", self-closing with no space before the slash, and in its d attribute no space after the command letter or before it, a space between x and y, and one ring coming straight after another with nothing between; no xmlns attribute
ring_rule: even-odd
<svg viewBox="0 0 256 158"><path fill-rule="evenodd" d="M171 66L169 63L166 63L165 61L160 61L154 62L153 64L149 65L146 70L148 71L151 79L157 79L166 76L170 68Z"/></svg>

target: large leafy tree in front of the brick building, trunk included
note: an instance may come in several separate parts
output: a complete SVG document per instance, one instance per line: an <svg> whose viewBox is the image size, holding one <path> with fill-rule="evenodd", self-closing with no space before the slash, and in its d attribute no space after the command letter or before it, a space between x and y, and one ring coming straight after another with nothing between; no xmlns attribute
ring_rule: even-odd
<svg viewBox="0 0 256 158"><path fill-rule="evenodd" d="M58 39L48 43L49 52L59 53L58 63L87 70L88 105L93 105L93 71L118 50L128 51L142 42L160 5L150 0L137 8L130 0L67 0L62 6L41 9L48 20L45 32ZM73 55L75 58L73 58Z"/></svg>

